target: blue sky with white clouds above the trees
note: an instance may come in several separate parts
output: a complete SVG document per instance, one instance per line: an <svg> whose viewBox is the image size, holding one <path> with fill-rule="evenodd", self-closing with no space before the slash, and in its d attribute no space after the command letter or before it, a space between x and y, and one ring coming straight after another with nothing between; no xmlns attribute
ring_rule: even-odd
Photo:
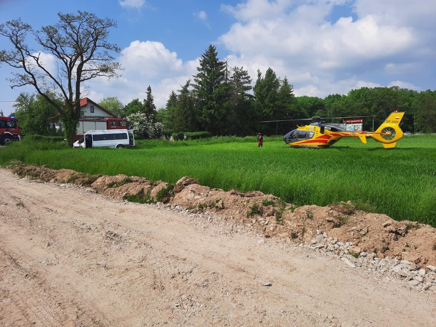
<svg viewBox="0 0 436 327"><path fill-rule="evenodd" d="M59 12L77 10L117 22L108 41L121 48L114 55L123 71L86 83L83 96L97 103L142 101L150 85L156 107L164 107L171 91L197 74L209 45L230 67L247 70L253 86L257 71L265 76L271 68L296 96L324 98L364 86L436 89L434 0L0 0L0 24L21 18L39 30L55 25ZM11 49L0 36L0 50ZM0 65L5 115L21 92L34 93L29 86L11 89L11 72L17 70Z"/></svg>

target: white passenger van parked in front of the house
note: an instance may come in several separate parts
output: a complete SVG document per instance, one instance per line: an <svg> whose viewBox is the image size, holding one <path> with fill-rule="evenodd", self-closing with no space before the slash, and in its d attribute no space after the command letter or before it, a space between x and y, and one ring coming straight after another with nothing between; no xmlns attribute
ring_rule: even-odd
<svg viewBox="0 0 436 327"><path fill-rule="evenodd" d="M131 147L135 146L133 129L89 130L73 147Z"/></svg>

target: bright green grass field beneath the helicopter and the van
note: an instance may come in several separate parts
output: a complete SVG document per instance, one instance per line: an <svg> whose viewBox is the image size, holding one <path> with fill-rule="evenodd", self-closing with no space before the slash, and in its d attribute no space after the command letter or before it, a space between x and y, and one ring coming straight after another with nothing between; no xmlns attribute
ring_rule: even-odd
<svg viewBox="0 0 436 327"><path fill-rule="evenodd" d="M254 137L137 141L132 149L70 149L24 139L0 149L0 164L11 160L170 183L189 176L298 206L351 200L365 211L436 227L436 135L406 136L394 149L345 138L327 149L291 148L281 137L266 137L262 148Z"/></svg>

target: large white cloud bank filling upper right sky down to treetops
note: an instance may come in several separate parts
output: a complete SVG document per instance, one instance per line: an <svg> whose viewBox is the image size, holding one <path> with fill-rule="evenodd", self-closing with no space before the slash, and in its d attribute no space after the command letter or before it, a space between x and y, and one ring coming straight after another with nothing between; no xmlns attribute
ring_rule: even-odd
<svg viewBox="0 0 436 327"><path fill-rule="evenodd" d="M387 86L374 82L376 75L413 74L423 68L422 57L434 55L434 42L423 40L420 24L413 23L434 16L436 3L428 5L431 14L422 15L425 1L357 0L354 18L328 21L334 7L344 4L353 2L247 0L222 6L238 21L219 42L230 51L229 62L244 66L254 80L257 69L265 73L271 67L288 78L297 95L320 97ZM405 17L408 9L412 18ZM433 20L424 25L434 27Z"/></svg>

